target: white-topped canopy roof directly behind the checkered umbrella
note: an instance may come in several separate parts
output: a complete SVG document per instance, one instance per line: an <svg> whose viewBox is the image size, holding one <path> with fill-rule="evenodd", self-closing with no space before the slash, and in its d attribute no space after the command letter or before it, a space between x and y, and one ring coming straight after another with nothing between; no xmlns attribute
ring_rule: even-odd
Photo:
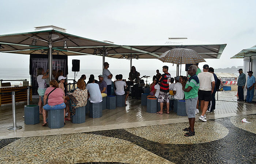
<svg viewBox="0 0 256 164"><path fill-rule="evenodd" d="M189 48L195 50L204 59L219 59L226 45L227 44L213 44L188 38L168 38L140 44L122 44L121 47L128 50L139 51L140 53L134 54L134 56L138 56L139 59L158 58L161 54L173 48ZM109 57L122 58L123 56L121 54L109 54Z"/></svg>

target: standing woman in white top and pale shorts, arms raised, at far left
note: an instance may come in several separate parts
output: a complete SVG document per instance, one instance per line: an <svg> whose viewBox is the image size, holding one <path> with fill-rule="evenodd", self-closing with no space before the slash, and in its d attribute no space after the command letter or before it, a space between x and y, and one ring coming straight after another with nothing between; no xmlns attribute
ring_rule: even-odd
<svg viewBox="0 0 256 164"><path fill-rule="evenodd" d="M45 90L47 88L46 86L46 78L49 78L49 74L46 75L49 72L49 70L47 70L46 72L44 71L44 69L42 67L37 69L37 83L38 83L38 95L39 95L39 102L38 102L38 106L39 106L39 113L42 114L43 112L43 98L44 98L44 94L45 94Z"/></svg>

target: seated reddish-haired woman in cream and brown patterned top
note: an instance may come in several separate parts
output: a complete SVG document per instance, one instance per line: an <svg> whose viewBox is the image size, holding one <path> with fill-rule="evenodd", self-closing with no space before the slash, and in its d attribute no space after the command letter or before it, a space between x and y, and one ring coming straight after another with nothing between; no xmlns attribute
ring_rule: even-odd
<svg viewBox="0 0 256 164"><path fill-rule="evenodd" d="M68 117L65 118L66 121L71 121L70 116L76 114L76 108L87 104L88 91L85 88L84 80L79 79L76 85L78 88L71 95L66 96L66 100L68 100Z"/></svg>

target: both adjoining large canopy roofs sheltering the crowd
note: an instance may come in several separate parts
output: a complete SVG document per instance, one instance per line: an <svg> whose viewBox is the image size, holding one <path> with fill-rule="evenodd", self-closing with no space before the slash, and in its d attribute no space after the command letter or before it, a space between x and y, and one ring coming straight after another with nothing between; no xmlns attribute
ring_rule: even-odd
<svg viewBox="0 0 256 164"><path fill-rule="evenodd" d="M104 63L105 56L129 59L158 58L172 48L190 48L203 58L218 59L225 47L226 44L210 44L187 38L168 38L154 43L121 45L71 35L66 33L66 29L56 26L41 26L35 27L33 32L0 35L0 52L48 54L49 66L52 65L52 55L100 55L103 56Z"/></svg>

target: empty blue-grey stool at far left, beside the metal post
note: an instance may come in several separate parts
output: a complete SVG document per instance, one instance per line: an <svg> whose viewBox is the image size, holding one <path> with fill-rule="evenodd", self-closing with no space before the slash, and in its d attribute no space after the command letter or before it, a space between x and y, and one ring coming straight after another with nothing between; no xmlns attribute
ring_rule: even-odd
<svg viewBox="0 0 256 164"><path fill-rule="evenodd" d="M38 124L39 120L39 106L25 105L24 106L24 123L26 125Z"/></svg>

